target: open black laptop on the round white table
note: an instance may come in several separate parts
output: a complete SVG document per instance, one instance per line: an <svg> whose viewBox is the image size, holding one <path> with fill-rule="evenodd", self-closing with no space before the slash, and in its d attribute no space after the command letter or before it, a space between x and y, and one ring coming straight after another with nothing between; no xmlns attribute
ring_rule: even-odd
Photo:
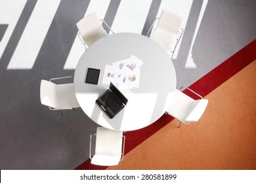
<svg viewBox="0 0 256 183"><path fill-rule="evenodd" d="M110 88L106 90L96 103L106 112L110 118L114 118L127 104L127 98L110 82Z"/></svg>

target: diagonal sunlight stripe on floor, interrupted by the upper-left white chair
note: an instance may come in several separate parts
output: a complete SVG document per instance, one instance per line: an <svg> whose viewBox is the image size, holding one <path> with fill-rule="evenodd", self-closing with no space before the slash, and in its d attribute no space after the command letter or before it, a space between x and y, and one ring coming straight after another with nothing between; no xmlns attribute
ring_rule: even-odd
<svg viewBox="0 0 256 183"><path fill-rule="evenodd" d="M85 13L85 16L87 16L87 14L91 14L92 12L96 12L99 18L103 19L109 4L110 4L110 0L108 1L91 0L89 7ZM75 69L83 52L85 52L85 46L83 46L83 43L77 36L75 37L75 41L70 50L70 54L68 54L68 58L66 59L66 63L63 69Z"/></svg>

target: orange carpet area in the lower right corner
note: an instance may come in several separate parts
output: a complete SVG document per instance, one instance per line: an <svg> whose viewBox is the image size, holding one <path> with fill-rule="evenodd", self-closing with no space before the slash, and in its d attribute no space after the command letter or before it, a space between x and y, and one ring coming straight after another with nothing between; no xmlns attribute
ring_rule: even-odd
<svg viewBox="0 0 256 183"><path fill-rule="evenodd" d="M199 122L173 120L108 169L256 169L256 61L204 98Z"/></svg>

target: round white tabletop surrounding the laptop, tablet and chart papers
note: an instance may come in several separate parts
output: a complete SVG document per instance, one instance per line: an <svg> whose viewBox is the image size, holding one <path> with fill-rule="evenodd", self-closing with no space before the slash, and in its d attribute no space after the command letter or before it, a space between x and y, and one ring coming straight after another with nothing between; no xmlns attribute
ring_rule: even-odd
<svg viewBox="0 0 256 183"><path fill-rule="evenodd" d="M139 88L119 88L128 103L110 119L95 103L109 87L102 84L105 66L132 55L143 62ZM85 83L88 67L100 69L98 84ZM176 73L165 50L152 39L135 33L115 33L96 41L81 56L74 86L79 105L96 124L117 131L133 131L154 123L169 107L176 88Z"/></svg>

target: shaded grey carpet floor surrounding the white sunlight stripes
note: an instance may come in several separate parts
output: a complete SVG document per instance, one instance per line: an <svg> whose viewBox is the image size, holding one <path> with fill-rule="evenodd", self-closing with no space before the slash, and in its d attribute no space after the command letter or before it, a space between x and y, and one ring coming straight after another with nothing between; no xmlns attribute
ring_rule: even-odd
<svg viewBox="0 0 256 183"><path fill-rule="evenodd" d="M61 1L33 68L7 69L37 1L26 3L0 60L0 169L74 169L89 158L89 135L97 125L81 109L65 110L62 116L41 105L39 86L41 79L74 75L63 66L77 34L75 23L92 2ZM104 18L108 24L114 23L120 3L110 1ZM141 34L146 34L161 3L150 4ZM256 38L255 0L209 0L192 45L196 68L186 67L202 5L202 0L192 1L179 54L173 59L177 86L190 86ZM0 40L7 27L0 24Z"/></svg>

